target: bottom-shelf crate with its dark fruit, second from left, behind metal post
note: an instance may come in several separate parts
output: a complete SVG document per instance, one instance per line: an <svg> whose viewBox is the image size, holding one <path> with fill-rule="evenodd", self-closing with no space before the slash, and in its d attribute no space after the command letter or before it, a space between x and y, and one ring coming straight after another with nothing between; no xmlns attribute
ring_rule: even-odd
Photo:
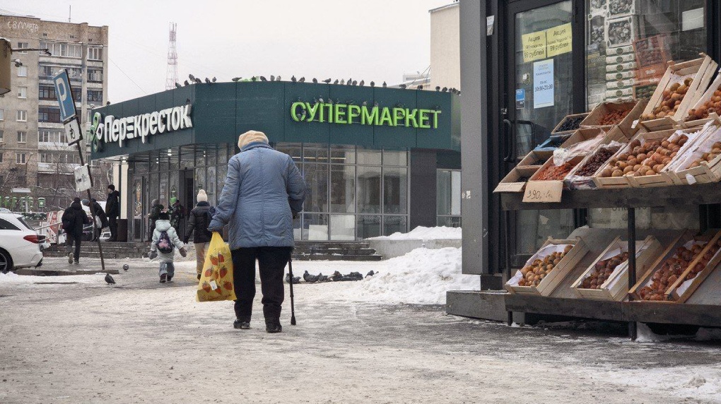
<svg viewBox="0 0 721 404"><path fill-rule="evenodd" d="M647 271L661 251L661 243L653 235L636 241L636 271ZM571 285L582 299L625 300L629 291L628 242L616 237Z"/></svg>

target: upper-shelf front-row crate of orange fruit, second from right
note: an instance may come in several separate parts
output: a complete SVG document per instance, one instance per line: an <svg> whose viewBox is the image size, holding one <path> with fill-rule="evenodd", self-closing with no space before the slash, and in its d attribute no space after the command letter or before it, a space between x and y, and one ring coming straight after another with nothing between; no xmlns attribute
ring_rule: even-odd
<svg viewBox="0 0 721 404"><path fill-rule="evenodd" d="M676 130L666 140L655 141L649 147L646 158L638 161L641 167L628 176L631 187L665 187L673 184L668 168L703 136L701 129ZM645 171L645 172L644 172Z"/></svg>

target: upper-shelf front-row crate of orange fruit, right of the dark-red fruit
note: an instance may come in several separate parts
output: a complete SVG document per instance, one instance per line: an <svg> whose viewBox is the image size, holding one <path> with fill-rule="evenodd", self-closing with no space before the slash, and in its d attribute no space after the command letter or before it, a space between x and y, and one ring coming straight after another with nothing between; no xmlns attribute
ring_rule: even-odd
<svg viewBox="0 0 721 404"><path fill-rule="evenodd" d="M593 181L598 188L627 188L631 187L629 176L642 169L651 169L640 164L648 158L647 154L658 148L676 130L661 130L659 132L639 133L616 155L609 159L609 162L599 170ZM645 174L645 173L644 173Z"/></svg>

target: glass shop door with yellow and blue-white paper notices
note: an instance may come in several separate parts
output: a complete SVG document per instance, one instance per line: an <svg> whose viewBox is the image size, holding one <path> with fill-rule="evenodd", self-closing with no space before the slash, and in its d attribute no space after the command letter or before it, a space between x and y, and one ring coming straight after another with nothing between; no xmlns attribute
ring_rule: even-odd
<svg viewBox="0 0 721 404"><path fill-rule="evenodd" d="M509 5L506 70L509 74L506 110L508 169L573 112L574 89L583 91L583 73L575 74L572 53L574 30L572 1L517 1ZM580 76L580 77L577 77ZM576 84L575 80L582 81ZM520 211L511 231L516 264L548 238L565 238L575 228L572 210Z"/></svg>

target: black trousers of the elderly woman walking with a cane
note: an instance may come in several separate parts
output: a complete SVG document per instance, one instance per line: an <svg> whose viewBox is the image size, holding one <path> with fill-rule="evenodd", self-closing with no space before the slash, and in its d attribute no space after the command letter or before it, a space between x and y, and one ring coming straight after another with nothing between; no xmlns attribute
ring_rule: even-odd
<svg viewBox="0 0 721 404"><path fill-rule="evenodd" d="M263 316L266 324L280 324L280 307L283 305L283 273L291 258L293 247L238 248L233 256L233 284L235 288L235 316L250 321L255 298L255 261L260 271L260 289L263 294Z"/></svg>

